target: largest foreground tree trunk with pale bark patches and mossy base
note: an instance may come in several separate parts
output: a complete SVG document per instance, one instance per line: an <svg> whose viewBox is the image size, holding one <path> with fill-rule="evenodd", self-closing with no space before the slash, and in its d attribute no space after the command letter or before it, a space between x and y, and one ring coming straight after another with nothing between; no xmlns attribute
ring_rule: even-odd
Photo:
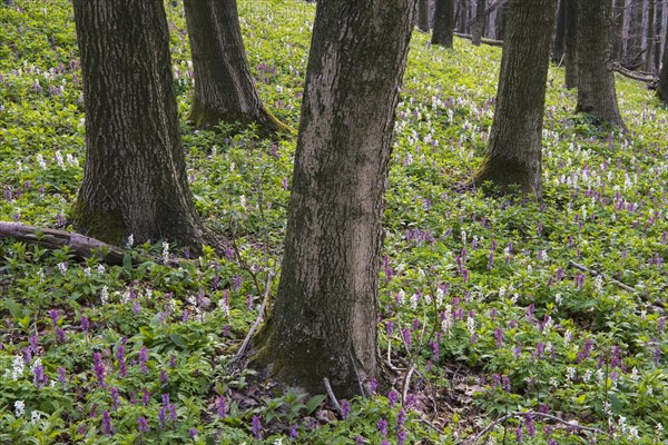
<svg viewBox="0 0 668 445"><path fill-rule="evenodd" d="M318 2L276 303L254 360L336 395L379 378L383 194L415 0Z"/></svg>

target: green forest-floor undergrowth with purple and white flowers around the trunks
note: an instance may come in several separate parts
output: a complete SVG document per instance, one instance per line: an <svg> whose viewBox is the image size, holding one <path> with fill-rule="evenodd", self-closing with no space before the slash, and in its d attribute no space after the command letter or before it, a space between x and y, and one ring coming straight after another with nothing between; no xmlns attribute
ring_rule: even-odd
<svg viewBox="0 0 668 445"><path fill-rule="evenodd" d="M85 156L71 4L14 2L0 8L0 219L68 228ZM166 10L185 117L185 21ZM314 10L239 2L261 96L295 128ZM381 353L415 367L406 399L400 378L337 418L233 366L279 271L295 138L181 119L197 209L235 247L174 261L178 246L132 246L105 266L1 240L0 443L460 444L500 418L477 443L668 441L666 107L618 78L630 132L598 128L551 67L544 201L463 191L501 51L428 40L414 34L402 87L380 277Z"/></svg>

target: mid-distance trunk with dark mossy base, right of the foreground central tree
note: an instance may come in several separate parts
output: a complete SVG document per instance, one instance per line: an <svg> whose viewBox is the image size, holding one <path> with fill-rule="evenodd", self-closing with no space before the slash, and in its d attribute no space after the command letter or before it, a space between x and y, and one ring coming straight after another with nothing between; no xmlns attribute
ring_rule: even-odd
<svg viewBox="0 0 668 445"><path fill-rule="evenodd" d="M475 184L542 194L542 121L556 0L511 0L490 142Z"/></svg>

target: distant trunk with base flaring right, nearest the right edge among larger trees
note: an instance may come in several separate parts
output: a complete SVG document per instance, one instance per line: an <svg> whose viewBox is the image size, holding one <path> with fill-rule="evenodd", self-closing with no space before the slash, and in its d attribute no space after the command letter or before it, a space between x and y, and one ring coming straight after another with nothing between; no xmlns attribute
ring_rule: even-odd
<svg viewBox="0 0 668 445"><path fill-rule="evenodd" d="M578 8L578 105L597 121L626 125L617 106L612 51L612 1L587 0Z"/></svg>

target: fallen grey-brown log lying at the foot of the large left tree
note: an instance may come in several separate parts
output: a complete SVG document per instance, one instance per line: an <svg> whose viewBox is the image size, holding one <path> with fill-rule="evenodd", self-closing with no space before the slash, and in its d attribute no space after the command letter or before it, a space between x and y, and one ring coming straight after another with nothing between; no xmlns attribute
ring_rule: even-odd
<svg viewBox="0 0 668 445"><path fill-rule="evenodd" d="M39 228L20 222L0 221L0 239L11 238L36 244L49 250L69 247L77 259L96 257L111 266L122 265L126 253L99 239L76 231Z"/></svg>

